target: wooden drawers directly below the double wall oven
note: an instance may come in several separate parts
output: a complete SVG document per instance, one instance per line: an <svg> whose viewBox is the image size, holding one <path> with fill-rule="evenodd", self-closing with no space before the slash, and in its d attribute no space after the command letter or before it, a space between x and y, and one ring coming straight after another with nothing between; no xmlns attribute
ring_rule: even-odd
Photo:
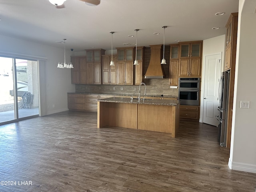
<svg viewBox="0 0 256 192"><path fill-rule="evenodd" d="M199 119L200 106L180 105L180 118Z"/></svg>

